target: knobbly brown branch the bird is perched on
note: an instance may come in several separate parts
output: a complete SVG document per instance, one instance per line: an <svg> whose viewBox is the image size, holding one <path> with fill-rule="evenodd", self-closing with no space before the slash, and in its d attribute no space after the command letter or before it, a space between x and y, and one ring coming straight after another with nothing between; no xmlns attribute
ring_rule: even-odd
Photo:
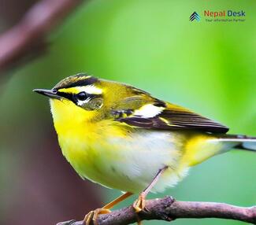
<svg viewBox="0 0 256 225"><path fill-rule="evenodd" d="M171 221L181 218L219 218L235 219L256 224L256 206L238 207L224 203L175 201L173 197L149 200L146 202L147 210L139 213L143 220L158 219ZM132 206L121 208L109 214L98 216L98 225L126 225L135 223L137 216ZM82 225L83 221L70 220L58 225Z"/></svg>

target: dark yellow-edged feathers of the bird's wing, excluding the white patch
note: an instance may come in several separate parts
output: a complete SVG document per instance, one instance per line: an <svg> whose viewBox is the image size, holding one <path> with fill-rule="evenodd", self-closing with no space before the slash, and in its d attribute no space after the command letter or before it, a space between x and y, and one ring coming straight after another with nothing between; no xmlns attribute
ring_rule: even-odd
<svg viewBox="0 0 256 225"><path fill-rule="evenodd" d="M152 104L154 106L159 105ZM226 133L228 127L219 124L206 117L200 116L194 112L184 109L177 105L167 104L166 107L154 117L136 116L135 113L130 116L121 116L116 121L128 124L132 127L141 127L146 129L159 130L198 130L210 133ZM159 107L163 107L159 105Z"/></svg>

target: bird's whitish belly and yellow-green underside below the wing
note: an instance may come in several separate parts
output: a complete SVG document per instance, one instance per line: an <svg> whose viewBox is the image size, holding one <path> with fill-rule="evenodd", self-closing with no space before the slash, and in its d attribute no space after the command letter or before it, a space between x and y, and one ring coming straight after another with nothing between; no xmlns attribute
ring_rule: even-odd
<svg viewBox="0 0 256 225"><path fill-rule="evenodd" d="M81 160L83 168L71 164L95 183L132 193L142 191L159 169L169 166L152 190L159 192L174 186L187 173L187 166L180 167L183 146L177 143L184 141L177 142L179 138L184 138L179 132L141 131L130 138L109 138L107 145L106 139L99 139L91 146L91 160Z"/></svg>

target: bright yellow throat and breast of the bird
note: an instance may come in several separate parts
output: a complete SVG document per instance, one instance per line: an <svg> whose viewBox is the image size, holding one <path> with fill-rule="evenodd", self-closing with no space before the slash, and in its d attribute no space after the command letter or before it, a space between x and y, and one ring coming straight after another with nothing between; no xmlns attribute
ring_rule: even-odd
<svg viewBox="0 0 256 225"><path fill-rule="evenodd" d="M107 185L102 165L117 160L117 156L116 149L109 145L106 138L109 135L124 137L124 130L110 126L109 120L91 120L92 112L80 109L70 101L50 100L50 105L58 142L65 158L81 177Z"/></svg>

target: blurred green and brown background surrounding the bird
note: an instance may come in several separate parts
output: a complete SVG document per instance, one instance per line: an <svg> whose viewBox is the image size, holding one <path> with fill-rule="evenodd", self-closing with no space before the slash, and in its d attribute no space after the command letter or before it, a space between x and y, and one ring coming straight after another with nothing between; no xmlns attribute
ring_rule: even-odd
<svg viewBox="0 0 256 225"><path fill-rule="evenodd" d="M243 9L246 21L207 23L204 9ZM43 57L0 79L0 223L82 219L90 208L120 194L73 172L58 147L46 98L32 93L77 72L132 84L220 121L230 133L255 136L255 9L254 0L95 0L80 6L50 35ZM200 22L189 21L194 11ZM213 157L192 168L176 188L150 197L165 195L255 205L256 154L232 151ZM243 224L220 219L172 224L220 223Z"/></svg>

